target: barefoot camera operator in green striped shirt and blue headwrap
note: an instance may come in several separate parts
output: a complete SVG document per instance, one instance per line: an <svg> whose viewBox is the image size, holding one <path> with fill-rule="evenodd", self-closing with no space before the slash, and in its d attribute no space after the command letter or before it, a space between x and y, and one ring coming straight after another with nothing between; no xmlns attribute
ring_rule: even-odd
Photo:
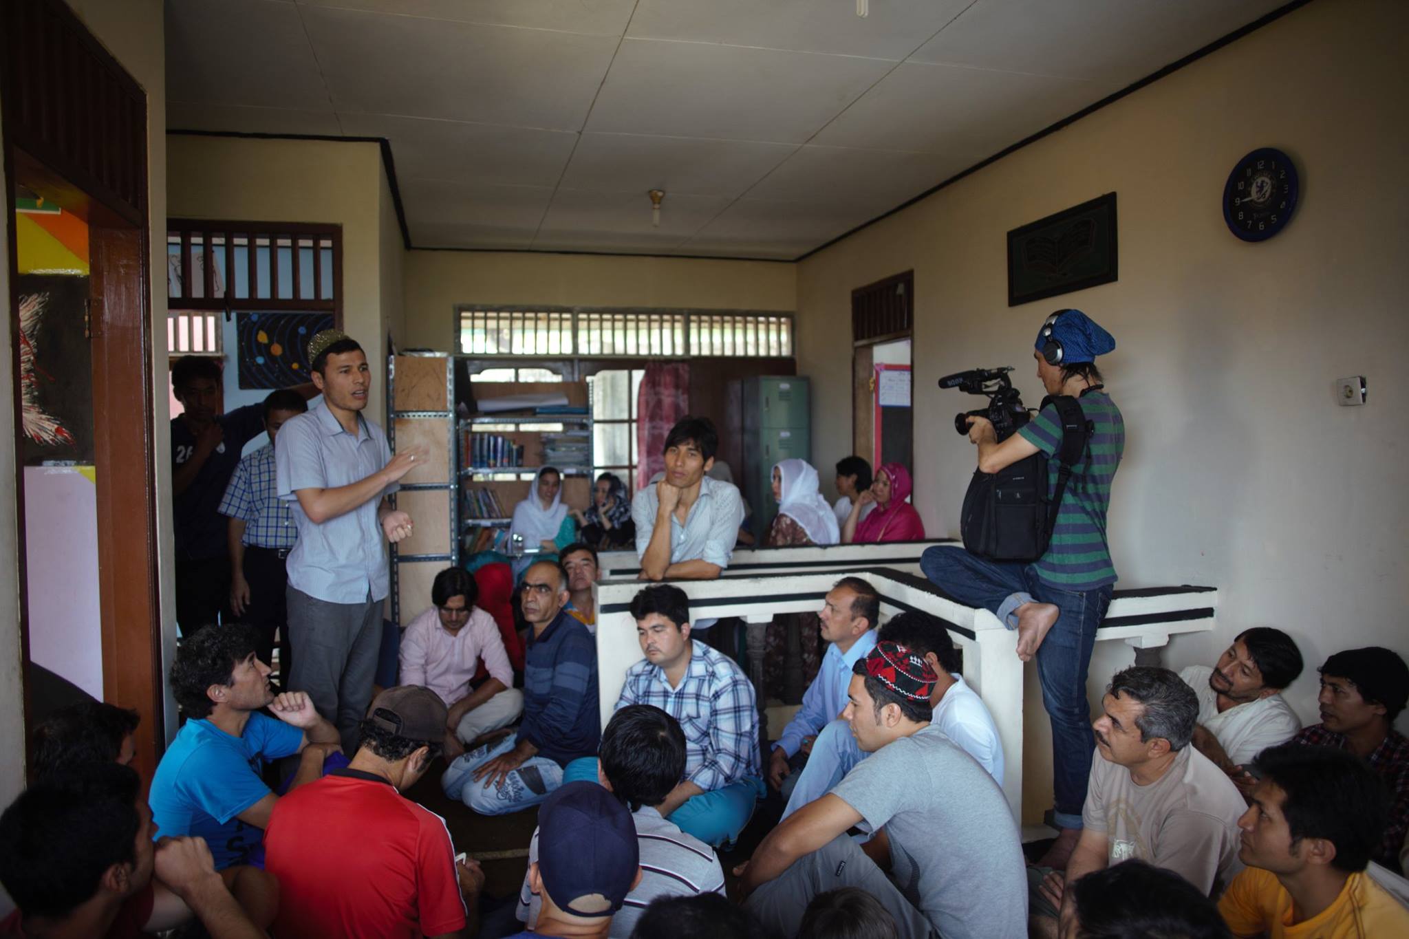
<svg viewBox="0 0 1409 939"><path fill-rule="evenodd" d="M1079 396L1081 410L1095 424L1086 452L1072 467L1051 545L1034 563L986 560L964 548L936 545L920 569L957 601L983 607L1009 629L1017 629L1017 657L1037 656L1043 704L1053 722L1055 821L1062 829L1043 864L1064 869L1081 833L1092 748L1086 667L1096 626L1110 605L1116 569L1106 543L1110 481L1120 465L1126 428L1100 384L1095 359L1116 348L1109 332L1079 310L1061 310L1037 334L1037 377L1047 394ZM969 417L969 439L978 445L985 473L1047 453L1048 496L1055 489L1055 459L1062 424L1053 404L1002 443L983 417Z"/></svg>

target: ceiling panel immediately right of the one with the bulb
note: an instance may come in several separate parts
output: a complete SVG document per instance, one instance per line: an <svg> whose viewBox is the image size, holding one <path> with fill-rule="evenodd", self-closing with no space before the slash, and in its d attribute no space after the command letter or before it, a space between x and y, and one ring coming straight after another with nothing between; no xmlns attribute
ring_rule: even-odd
<svg viewBox="0 0 1409 939"><path fill-rule="evenodd" d="M836 191L858 201L903 203L972 160L938 153L807 145L748 190L750 198L827 200Z"/></svg>

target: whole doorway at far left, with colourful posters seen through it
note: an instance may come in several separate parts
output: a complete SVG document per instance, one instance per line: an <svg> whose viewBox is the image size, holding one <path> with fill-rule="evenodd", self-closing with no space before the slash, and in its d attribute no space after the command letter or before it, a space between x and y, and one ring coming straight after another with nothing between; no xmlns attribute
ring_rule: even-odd
<svg viewBox="0 0 1409 939"><path fill-rule="evenodd" d="M3 7L24 725L85 697L132 708L149 774L165 735L147 97L58 0Z"/></svg>

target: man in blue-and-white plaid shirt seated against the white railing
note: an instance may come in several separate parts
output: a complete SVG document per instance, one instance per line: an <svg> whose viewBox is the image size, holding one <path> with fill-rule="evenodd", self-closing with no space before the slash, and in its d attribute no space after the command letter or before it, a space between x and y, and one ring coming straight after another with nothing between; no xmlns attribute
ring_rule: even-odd
<svg viewBox="0 0 1409 939"><path fill-rule="evenodd" d="M627 669L616 710L651 704L685 731L685 779L658 811L707 845L731 843L766 794L754 686L733 659L690 641L690 603L679 587L644 588L631 617L645 659ZM596 779L596 760L578 763L564 781Z"/></svg>

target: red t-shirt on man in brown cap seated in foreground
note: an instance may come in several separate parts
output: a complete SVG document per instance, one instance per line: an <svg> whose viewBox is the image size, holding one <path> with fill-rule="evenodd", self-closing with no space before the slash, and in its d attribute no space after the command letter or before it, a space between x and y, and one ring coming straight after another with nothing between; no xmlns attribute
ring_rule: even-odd
<svg viewBox="0 0 1409 939"><path fill-rule="evenodd" d="M445 821L386 780L334 770L282 797L265 829L282 939L417 939L465 926Z"/></svg>

